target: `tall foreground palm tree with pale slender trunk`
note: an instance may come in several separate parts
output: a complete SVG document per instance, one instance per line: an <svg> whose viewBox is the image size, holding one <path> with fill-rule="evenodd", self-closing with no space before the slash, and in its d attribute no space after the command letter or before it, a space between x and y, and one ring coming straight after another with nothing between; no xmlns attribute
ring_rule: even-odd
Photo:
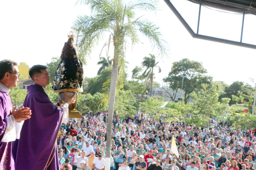
<svg viewBox="0 0 256 170"><path fill-rule="evenodd" d="M149 38L152 47L156 47L161 56L167 55L167 43L161 38L159 27L154 25L142 16L135 19L135 10L157 11L159 0L78 0L77 3L88 5L92 12L91 16L78 16L74 21L73 30L78 36L78 46L83 58L91 55L92 49L100 41L110 35L106 45L113 42L114 58L111 76L103 84L106 97L102 100L109 103L109 116L107 125L107 150L106 166L110 169L110 144L115 95L123 85L125 73L125 52L127 51L128 41L131 47L140 42L139 33Z"/></svg>

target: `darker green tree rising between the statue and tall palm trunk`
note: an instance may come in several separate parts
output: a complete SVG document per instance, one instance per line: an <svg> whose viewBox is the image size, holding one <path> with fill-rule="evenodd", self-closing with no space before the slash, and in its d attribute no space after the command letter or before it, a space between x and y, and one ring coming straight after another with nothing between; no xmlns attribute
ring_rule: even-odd
<svg viewBox="0 0 256 170"><path fill-rule="evenodd" d="M107 77L111 75L112 68L103 69L100 75L90 78L88 81L88 93L94 95L95 93L102 93L103 83L107 81Z"/></svg>

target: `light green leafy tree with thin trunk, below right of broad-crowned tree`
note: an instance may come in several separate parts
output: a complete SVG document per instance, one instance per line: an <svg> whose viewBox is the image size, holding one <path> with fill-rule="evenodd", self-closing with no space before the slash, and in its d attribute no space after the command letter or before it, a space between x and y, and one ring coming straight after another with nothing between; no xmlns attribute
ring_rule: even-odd
<svg viewBox="0 0 256 170"><path fill-rule="evenodd" d="M190 96L193 99L196 114L207 120L207 127L209 128L210 118L217 115L220 102L218 102L217 86L213 85L210 89L207 88L207 84L202 84L202 90L198 93L192 92Z"/></svg>

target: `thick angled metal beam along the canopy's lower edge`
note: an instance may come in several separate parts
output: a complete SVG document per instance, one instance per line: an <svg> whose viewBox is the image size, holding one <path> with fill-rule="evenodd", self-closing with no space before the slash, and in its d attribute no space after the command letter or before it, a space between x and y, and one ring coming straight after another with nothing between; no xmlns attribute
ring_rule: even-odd
<svg viewBox="0 0 256 170"><path fill-rule="evenodd" d="M181 14L179 14L179 12L176 10L176 8L170 2L170 0L164 0L164 1L168 5L168 7L173 11L174 15L179 19L179 21L182 23L182 25L186 28L186 30L189 32L189 34L193 38L198 38L198 39L201 39L201 40L208 40L208 41L214 41L214 42L220 42L220 43L224 43L224 44L230 44L230 45L236 45L236 46L240 46L240 47L256 49L256 45L253 45L253 44L247 44L247 43L243 43L243 42L239 42L239 41L232 41L232 40L226 40L226 39L223 39L223 38L216 38L216 37L210 37L210 36L196 34L192 30L192 28L188 25L188 23L185 21L185 19L181 16Z"/></svg>

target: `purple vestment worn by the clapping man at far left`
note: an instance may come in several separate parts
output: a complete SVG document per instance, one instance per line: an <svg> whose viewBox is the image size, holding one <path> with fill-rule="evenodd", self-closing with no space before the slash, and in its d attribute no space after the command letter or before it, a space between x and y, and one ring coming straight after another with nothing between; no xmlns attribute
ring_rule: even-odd
<svg viewBox="0 0 256 170"><path fill-rule="evenodd" d="M0 169L14 170L14 159L11 152L12 142L2 142L7 127L5 118L12 111L11 99L8 93L0 91Z"/></svg>

